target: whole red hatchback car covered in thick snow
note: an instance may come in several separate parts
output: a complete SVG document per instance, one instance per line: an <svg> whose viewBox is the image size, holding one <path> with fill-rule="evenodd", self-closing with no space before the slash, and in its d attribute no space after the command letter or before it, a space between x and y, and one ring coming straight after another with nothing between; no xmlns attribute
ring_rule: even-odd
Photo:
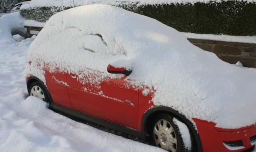
<svg viewBox="0 0 256 152"><path fill-rule="evenodd" d="M30 96L172 152L256 143L256 79L152 18L108 5L52 16L28 50Z"/></svg>

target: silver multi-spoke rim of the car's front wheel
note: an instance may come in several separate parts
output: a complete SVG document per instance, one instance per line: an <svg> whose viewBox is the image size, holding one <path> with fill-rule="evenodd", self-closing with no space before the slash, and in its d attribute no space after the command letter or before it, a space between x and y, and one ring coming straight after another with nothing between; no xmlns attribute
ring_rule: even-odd
<svg viewBox="0 0 256 152"><path fill-rule="evenodd" d="M176 152L177 138L170 122L165 119L158 120L153 129L153 136L156 146L170 152Z"/></svg>

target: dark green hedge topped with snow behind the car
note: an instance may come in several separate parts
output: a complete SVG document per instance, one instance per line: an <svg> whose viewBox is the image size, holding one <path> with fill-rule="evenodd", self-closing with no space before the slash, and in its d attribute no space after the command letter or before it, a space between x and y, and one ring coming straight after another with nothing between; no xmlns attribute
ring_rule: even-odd
<svg viewBox="0 0 256 152"><path fill-rule="evenodd" d="M175 28L200 34L256 35L256 3L221 1L195 4L120 5ZM20 10L26 20L45 22L68 8L41 7Z"/></svg>

